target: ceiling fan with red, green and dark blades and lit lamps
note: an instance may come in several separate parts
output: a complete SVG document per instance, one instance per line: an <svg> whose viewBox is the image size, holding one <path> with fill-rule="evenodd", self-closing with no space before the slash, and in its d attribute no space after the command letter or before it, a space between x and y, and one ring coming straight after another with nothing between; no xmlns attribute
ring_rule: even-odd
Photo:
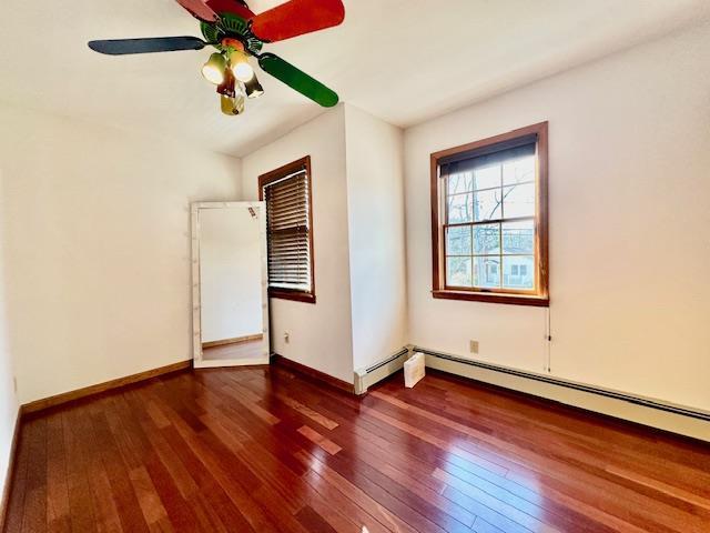
<svg viewBox="0 0 710 533"><path fill-rule="evenodd" d="M262 70L295 89L314 102L331 108L337 94L320 81L284 61L263 52L264 43L283 41L313 31L338 26L345 19L342 0L290 0L254 14L244 0L176 0L200 20L203 39L155 37L89 41L89 48L109 56L216 49L202 67L204 78L217 86L222 112L244 112L245 100L257 98L264 90L248 58L256 58Z"/></svg>

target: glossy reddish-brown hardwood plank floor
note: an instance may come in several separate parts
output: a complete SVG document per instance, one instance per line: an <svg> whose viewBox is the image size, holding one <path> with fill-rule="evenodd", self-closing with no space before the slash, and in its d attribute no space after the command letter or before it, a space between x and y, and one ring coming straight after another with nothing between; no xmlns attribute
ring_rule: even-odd
<svg viewBox="0 0 710 533"><path fill-rule="evenodd" d="M24 422L9 532L710 532L710 447L427 375L183 372Z"/></svg>

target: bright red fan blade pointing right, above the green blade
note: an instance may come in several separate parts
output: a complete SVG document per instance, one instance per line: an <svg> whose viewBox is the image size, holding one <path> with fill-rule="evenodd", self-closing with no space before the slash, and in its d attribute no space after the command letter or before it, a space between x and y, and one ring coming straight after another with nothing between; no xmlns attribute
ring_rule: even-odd
<svg viewBox="0 0 710 533"><path fill-rule="evenodd" d="M252 31L262 41L283 41L337 26L345 19L341 0L291 0L253 19Z"/></svg>

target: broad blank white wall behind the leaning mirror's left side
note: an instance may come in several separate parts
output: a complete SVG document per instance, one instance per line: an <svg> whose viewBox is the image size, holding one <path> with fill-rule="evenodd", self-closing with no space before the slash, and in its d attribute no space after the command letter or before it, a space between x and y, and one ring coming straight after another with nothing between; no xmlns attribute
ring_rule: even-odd
<svg viewBox="0 0 710 533"><path fill-rule="evenodd" d="M189 207L239 160L0 107L0 168L20 402L192 356Z"/></svg>

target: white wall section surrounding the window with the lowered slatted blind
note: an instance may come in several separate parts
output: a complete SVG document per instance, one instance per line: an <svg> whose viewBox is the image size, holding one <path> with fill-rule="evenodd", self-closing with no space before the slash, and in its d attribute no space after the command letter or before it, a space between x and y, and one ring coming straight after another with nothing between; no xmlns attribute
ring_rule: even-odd
<svg viewBox="0 0 710 533"><path fill-rule="evenodd" d="M344 108L338 105L242 160L245 200L258 175L311 155L316 303L271 299L272 350L353 382ZM290 333L290 342L284 333Z"/></svg>

